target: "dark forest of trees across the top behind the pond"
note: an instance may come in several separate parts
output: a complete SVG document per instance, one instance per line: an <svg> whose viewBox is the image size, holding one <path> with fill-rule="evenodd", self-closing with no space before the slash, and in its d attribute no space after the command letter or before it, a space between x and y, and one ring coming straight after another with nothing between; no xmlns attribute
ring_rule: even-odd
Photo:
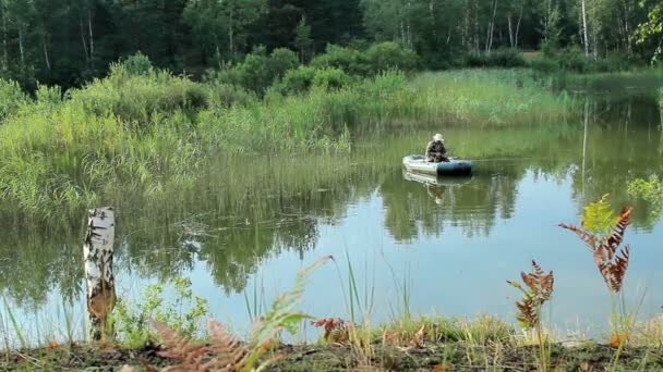
<svg viewBox="0 0 663 372"><path fill-rule="evenodd" d="M505 49L623 69L660 51L661 8L656 0L1 0L0 77L29 90L76 87L140 51L197 78L254 50L289 48L308 62L329 45L364 50L376 41L415 51L421 69L504 65L508 58L487 57Z"/></svg>

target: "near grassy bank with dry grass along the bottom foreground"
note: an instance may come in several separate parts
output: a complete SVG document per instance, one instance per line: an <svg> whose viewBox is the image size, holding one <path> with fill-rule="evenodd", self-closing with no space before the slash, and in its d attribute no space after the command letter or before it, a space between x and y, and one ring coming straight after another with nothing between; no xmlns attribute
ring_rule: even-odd
<svg viewBox="0 0 663 372"><path fill-rule="evenodd" d="M256 364L269 361L265 371L660 371L663 321L652 320L648 330L650 333L642 335L647 339L620 351L595 340L550 339L550 362L542 369L534 337L498 319L421 318L372 328L338 327L313 343L276 343L261 352ZM222 335L233 337L227 331ZM218 336L189 345L216 347L217 360L225 361L222 352L233 349L221 346ZM250 345L240 342L236 348L245 351ZM193 370L194 362L184 361L181 349L173 350L168 340L137 348L52 343L41 349L4 351L0 371L118 371L123 367L122 371L154 371L172 365L180 365L178 371Z"/></svg>

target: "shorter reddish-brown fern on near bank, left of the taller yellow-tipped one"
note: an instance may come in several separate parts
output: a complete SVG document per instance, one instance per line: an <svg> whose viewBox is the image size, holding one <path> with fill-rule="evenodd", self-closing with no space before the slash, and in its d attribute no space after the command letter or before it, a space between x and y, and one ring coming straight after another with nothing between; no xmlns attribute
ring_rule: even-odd
<svg viewBox="0 0 663 372"><path fill-rule="evenodd" d="M534 330L537 333L539 370L547 371L551 349L547 337L543 334L541 309L553 296L555 276L552 271L546 274L535 261L532 261L532 272L521 272L520 277L525 286L517 282L507 281L509 285L522 292L522 299L516 302L518 308L516 319L523 328Z"/></svg>

